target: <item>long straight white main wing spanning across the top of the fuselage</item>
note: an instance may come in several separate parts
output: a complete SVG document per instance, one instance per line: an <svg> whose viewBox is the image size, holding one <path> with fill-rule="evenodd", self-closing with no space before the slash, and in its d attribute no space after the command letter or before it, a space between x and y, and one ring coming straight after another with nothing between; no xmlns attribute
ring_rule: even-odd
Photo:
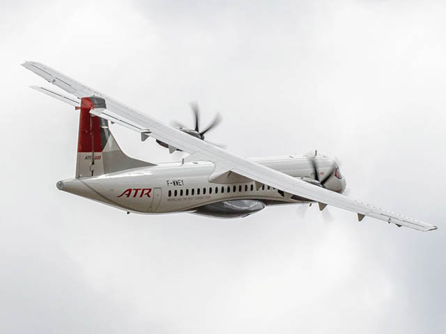
<svg viewBox="0 0 446 334"><path fill-rule="evenodd" d="M394 223L420 231L436 230L437 228L435 225L376 207L367 202L362 202L362 200L355 200L340 193L335 193L334 191L329 191L320 186L309 184L308 182L280 173L277 170L261 164L256 164L253 161L237 157L215 145L211 145L205 141L201 141L199 138L185 134L174 127L165 125L163 122L147 116L145 113L125 106L125 104L121 104L111 97L93 88L89 88L41 63L26 62L22 65L40 77L43 77L43 79L49 81L51 84L75 95L79 99L93 95L105 99L106 109L92 109L91 113L94 115L140 132L142 136L151 136L163 143L167 143L173 148L187 152L191 154L187 157L188 161L212 161L215 164L215 170L213 175L210 175L210 179L215 180L219 175L232 171L233 173L238 173L239 175L254 180L258 184L267 184L275 187L284 191L284 193L314 200L323 205L332 205L355 212L359 220L362 220L364 216L369 216L380 221L386 221L387 223Z"/></svg>

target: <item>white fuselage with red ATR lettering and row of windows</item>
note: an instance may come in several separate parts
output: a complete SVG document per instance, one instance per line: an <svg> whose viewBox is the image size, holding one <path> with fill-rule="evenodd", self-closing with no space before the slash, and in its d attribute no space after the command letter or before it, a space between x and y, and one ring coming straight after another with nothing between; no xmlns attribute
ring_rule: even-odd
<svg viewBox="0 0 446 334"><path fill-rule="evenodd" d="M314 158L319 178L333 168L332 159ZM267 157L250 159L293 177L312 181L315 178L307 156ZM206 161L182 164L166 163L133 168L98 177L81 177L58 182L63 191L97 200L127 212L160 214L168 212L197 212L197 209L216 202L256 200L264 205L312 202L305 198L286 196L270 186L256 184L240 175L229 175L220 183L209 182L215 166ZM330 177L325 188L342 192L345 180L339 175Z"/></svg>

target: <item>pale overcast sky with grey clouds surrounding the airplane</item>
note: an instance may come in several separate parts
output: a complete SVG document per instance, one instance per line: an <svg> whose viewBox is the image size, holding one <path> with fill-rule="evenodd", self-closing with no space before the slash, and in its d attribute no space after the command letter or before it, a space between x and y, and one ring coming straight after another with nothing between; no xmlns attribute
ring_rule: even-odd
<svg viewBox="0 0 446 334"><path fill-rule="evenodd" d="M1 333L443 333L445 1L1 1ZM224 120L244 157L318 150L350 195L236 220L121 212L56 189L78 114L40 61L160 120ZM179 159L127 129L123 150ZM327 219L324 219L325 218Z"/></svg>

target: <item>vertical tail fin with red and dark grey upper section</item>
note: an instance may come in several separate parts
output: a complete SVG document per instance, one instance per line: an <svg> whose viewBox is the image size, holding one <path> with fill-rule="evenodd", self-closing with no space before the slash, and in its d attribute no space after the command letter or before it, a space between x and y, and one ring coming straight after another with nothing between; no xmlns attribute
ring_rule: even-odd
<svg viewBox="0 0 446 334"><path fill-rule="evenodd" d="M91 115L91 109L105 109L101 97L83 97L79 116L79 138L77 141L76 177L98 176L120 170L154 166L146 161L132 159L119 148L109 123Z"/></svg>

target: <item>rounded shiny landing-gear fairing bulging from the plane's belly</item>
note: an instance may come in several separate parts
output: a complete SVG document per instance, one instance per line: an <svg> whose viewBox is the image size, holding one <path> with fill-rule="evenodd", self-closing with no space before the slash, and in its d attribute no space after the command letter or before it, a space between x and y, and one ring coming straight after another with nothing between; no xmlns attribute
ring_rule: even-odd
<svg viewBox="0 0 446 334"><path fill-rule="evenodd" d="M194 214L218 218L240 218L255 214L266 204L260 200L224 200L199 207Z"/></svg>

